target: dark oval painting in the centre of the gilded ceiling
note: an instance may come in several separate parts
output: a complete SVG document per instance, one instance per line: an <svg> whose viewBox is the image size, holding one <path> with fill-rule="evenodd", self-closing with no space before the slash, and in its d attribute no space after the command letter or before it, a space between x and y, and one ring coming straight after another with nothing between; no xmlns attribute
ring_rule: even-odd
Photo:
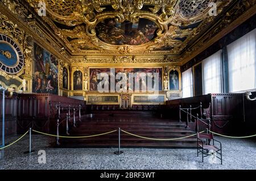
<svg viewBox="0 0 256 181"><path fill-rule="evenodd" d="M148 19L141 18L138 23L125 21L119 23L113 18L105 19L96 26L97 37L112 45L142 45L156 37L158 26Z"/></svg>

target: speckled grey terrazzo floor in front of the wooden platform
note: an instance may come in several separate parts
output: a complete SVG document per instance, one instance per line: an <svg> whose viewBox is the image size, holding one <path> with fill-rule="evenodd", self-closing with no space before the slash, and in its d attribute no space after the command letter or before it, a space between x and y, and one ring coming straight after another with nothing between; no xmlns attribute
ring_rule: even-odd
<svg viewBox="0 0 256 181"><path fill-rule="evenodd" d="M19 136L9 137L7 141ZM117 148L51 148L54 138L42 135L32 136L36 152L24 154L28 150L28 136L16 144L0 151L0 170L8 169L88 169L88 170L137 170L137 169L256 169L256 140L216 137L222 142L223 165L214 157L196 156L195 149L128 149L122 155L115 155ZM38 151L46 151L46 163L38 163Z"/></svg>

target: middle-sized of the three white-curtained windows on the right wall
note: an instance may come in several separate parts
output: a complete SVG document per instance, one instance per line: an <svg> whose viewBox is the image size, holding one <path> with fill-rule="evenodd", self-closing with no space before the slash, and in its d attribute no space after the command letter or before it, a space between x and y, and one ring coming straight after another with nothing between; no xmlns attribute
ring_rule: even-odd
<svg viewBox="0 0 256 181"><path fill-rule="evenodd" d="M204 94L221 93L221 50L203 61Z"/></svg>

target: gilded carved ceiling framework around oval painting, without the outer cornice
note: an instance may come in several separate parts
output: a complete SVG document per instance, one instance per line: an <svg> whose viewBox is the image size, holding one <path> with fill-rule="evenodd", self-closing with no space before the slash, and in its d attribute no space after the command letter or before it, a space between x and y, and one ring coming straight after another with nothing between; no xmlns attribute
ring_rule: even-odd
<svg viewBox="0 0 256 181"><path fill-rule="evenodd" d="M36 6L41 0L27 0ZM72 0L59 2L42 0L46 3L49 18L44 18L53 27L56 35L67 45L68 51L73 55L180 55L187 47L189 40L199 34L197 28L212 21L209 17L209 3L214 0L112 0L87 1ZM223 3L225 2L225 3ZM220 12L230 1L217 1ZM156 24L158 30L154 40L140 45L113 45L100 40L96 27L100 22L113 18L118 23L129 21L138 22L139 19L148 19ZM51 22L52 21L52 22ZM63 24L57 27L55 23ZM199 23L199 27L189 26ZM64 28L65 26L69 28ZM182 28L180 28L182 27ZM183 40L187 37L187 40ZM188 40L189 39L189 40ZM167 49L165 49L167 47Z"/></svg>

